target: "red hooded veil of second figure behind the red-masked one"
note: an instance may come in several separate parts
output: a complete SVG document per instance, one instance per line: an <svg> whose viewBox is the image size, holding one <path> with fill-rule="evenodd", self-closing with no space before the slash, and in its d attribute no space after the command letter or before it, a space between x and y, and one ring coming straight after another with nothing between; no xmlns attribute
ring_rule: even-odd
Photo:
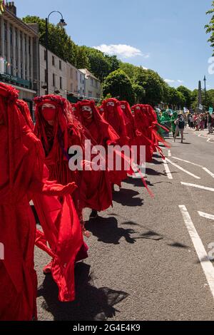
<svg viewBox="0 0 214 335"><path fill-rule="evenodd" d="M114 107L108 106L108 103L114 103ZM120 145L128 144L128 135L126 132L126 121L121 110L120 102L115 98L110 98L103 101L103 118L113 127L116 133L120 136Z"/></svg>

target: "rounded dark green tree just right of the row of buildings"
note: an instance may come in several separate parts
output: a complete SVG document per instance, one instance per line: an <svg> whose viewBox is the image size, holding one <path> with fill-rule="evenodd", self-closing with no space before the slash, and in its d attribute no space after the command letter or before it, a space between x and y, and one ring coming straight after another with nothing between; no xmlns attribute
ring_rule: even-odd
<svg viewBox="0 0 214 335"><path fill-rule="evenodd" d="M121 69L113 71L103 83L103 96L111 94L120 100L127 100L130 104L135 102L135 94L130 78Z"/></svg>

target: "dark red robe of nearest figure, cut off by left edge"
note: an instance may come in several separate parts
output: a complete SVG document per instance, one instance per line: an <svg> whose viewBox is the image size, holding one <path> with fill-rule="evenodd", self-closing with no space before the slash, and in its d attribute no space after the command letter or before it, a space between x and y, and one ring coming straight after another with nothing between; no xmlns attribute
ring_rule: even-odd
<svg viewBox="0 0 214 335"><path fill-rule="evenodd" d="M35 221L27 194L41 186L37 145L16 106L18 91L0 83L0 320L36 319ZM33 167L33 168L32 168Z"/></svg>

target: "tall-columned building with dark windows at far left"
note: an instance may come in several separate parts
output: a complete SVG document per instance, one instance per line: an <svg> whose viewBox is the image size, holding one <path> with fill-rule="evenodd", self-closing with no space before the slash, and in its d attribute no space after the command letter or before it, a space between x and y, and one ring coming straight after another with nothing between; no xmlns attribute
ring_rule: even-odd
<svg viewBox="0 0 214 335"><path fill-rule="evenodd" d="M39 33L36 24L24 24L8 2L0 16L0 81L19 90L29 103L39 94Z"/></svg>

